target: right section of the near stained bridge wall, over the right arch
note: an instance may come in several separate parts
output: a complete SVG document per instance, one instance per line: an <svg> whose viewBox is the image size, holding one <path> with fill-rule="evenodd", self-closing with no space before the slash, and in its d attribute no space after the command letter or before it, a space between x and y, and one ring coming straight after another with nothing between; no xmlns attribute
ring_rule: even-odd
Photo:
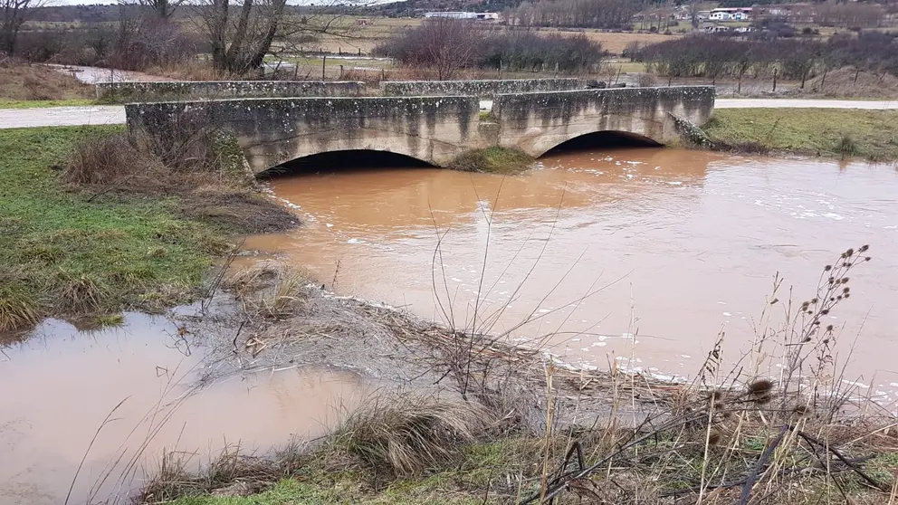
<svg viewBox="0 0 898 505"><path fill-rule="evenodd" d="M600 131L664 144L679 138L670 113L702 125L713 110L712 86L503 94L492 104L492 116L502 126L499 145L519 148L532 157Z"/></svg>

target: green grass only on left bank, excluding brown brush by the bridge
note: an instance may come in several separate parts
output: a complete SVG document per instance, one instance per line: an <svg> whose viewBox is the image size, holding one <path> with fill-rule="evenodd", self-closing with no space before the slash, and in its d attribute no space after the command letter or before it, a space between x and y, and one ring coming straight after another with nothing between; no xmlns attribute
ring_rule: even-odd
<svg viewBox="0 0 898 505"><path fill-rule="evenodd" d="M109 315L120 310L191 300L227 249L210 225L178 218L173 198L90 201L64 184L61 166L76 142L119 130L0 130L0 331L33 315L117 324Z"/></svg>

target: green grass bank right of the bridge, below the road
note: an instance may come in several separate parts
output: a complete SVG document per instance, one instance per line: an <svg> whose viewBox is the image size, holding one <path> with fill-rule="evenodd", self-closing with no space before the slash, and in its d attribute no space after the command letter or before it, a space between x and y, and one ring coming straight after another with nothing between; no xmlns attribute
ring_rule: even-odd
<svg viewBox="0 0 898 505"><path fill-rule="evenodd" d="M702 127L714 141L824 157L898 159L898 110L726 109Z"/></svg>

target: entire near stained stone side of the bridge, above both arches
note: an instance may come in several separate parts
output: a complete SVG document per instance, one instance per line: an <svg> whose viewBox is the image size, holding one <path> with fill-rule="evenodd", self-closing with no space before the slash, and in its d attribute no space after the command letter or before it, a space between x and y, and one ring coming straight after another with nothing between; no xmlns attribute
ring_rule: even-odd
<svg viewBox="0 0 898 505"><path fill-rule="evenodd" d="M342 150L388 151L445 166L466 151L501 146L539 157L590 133L658 144L679 138L672 114L711 117L707 86L500 94L481 113L476 96L205 100L126 106L129 128L171 135L184 115L229 132L254 173Z"/></svg>

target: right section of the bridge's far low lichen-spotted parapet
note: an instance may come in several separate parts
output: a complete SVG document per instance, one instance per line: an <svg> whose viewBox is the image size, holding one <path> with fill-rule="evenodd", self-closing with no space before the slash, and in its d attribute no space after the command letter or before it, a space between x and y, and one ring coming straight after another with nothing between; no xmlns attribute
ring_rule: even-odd
<svg viewBox="0 0 898 505"><path fill-rule="evenodd" d="M380 83L380 91L384 96L401 97L450 95L494 97L503 93L584 90L598 86L598 81L574 78L487 79L482 81L382 81Z"/></svg>

